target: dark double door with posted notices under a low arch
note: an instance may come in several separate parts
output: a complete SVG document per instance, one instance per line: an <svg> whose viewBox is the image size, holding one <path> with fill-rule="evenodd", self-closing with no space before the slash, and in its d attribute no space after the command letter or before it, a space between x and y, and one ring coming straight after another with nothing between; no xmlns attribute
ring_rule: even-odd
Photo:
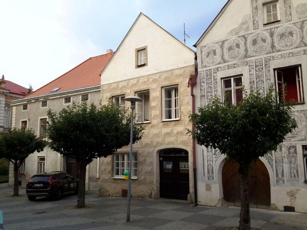
<svg viewBox="0 0 307 230"><path fill-rule="evenodd" d="M188 151L174 148L159 153L160 197L187 200L190 193Z"/></svg>

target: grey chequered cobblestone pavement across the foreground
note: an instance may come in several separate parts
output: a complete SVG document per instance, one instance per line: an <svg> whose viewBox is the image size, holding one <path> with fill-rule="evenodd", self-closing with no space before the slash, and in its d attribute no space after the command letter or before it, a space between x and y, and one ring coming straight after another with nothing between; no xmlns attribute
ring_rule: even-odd
<svg viewBox="0 0 307 230"><path fill-rule="evenodd" d="M126 198L102 198L97 192L88 191L86 204L93 206L71 209L68 207L76 205L76 195L60 201L46 197L29 201L25 188L20 188L20 197L11 197L12 193L13 187L0 184L5 230L214 230L239 224L238 207L192 207L185 201L132 198L131 221L126 223ZM263 230L307 230L307 214L251 209L251 226Z"/></svg>

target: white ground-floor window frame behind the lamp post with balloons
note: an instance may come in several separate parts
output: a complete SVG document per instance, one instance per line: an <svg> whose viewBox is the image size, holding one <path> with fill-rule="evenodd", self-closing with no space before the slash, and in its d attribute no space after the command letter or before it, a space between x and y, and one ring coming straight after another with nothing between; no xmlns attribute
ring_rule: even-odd
<svg viewBox="0 0 307 230"><path fill-rule="evenodd" d="M137 170L137 174L138 174L138 155L136 153L132 153L132 175L131 175L131 179L137 179L138 175L134 175L134 169ZM119 156L119 161L115 161L115 157ZM124 160L121 160L121 157L124 157ZM134 157L137 159L136 161L133 160ZM113 160L113 177L112 178L118 178L118 179L124 179L124 175L123 172L125 170L129 171L129 153L114 153L112 155L112 160ZM119 162L119 167L116 167L116 162ZM121 167L121 162L124 163L124 167ZM133 163L137 163L137 167L134 167ZM119 174L116 175L116 169L119 169ZM122 174L122 175L121 175Z"/></svg>

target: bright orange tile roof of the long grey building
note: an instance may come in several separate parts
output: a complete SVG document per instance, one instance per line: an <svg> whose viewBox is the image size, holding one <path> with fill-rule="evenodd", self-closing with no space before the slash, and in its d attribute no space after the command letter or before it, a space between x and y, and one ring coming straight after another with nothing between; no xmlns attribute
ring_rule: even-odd
<svg viewBox="0 0 307 230"><path fill-rule="evenodd" d="M60 77L35 90L23 98L32 98L52 93L51 90L60 87L56 93L97 86L101 84L100 73L107 65L114 52L91 57Z"/></svg>

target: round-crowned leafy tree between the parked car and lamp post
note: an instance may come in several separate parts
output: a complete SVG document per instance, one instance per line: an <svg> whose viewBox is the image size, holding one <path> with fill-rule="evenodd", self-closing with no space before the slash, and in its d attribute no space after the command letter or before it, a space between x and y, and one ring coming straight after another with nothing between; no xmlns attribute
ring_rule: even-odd
<svg viewBox="0 0 307 230"><path fill-rule="evenodd" d="M129 145L131 117L110 100L99 107L73 102L59 113L48 110L47 114L49 147L81 163L77 207L83 208L86 166L95 158L107 157ZM141 140L143 130L141 124L134 124L134 143Z"/></svg>

